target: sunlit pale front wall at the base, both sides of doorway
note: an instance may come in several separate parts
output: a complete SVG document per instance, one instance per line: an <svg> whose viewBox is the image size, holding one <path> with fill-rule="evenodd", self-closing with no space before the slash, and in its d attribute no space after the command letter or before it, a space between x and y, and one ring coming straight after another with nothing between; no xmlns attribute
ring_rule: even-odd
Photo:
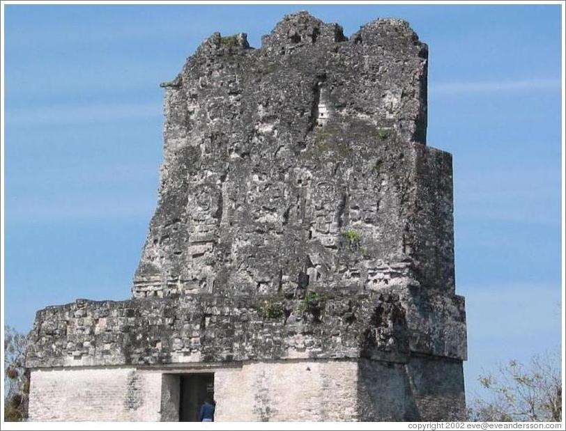
<svg viewBox="0 0 566 431"><path fill-rule="evenodd" d="M216 421L355 421L357 361L33 370L31 421L178 421L178 375L213 372ZM328 397L328 393L332 397Z"/></svg>

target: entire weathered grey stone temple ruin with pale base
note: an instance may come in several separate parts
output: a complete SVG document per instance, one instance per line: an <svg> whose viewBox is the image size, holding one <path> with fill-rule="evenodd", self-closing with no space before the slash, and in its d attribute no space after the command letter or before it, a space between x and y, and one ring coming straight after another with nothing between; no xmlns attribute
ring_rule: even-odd
<svg viewBox="0 0 566 431"><path fill-rule="evenodd" d="M37 313L43 421L464 415L452 159L426 146L427 45L308 13L214 33L165 88L159 202L132 299Z"/></svg>

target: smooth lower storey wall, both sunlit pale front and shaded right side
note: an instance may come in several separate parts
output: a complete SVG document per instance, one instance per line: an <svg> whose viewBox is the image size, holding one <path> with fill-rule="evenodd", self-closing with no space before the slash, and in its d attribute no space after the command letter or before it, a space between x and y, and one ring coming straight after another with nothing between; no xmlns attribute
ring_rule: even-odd
<svg viewBox="0 0 566 431"><path fill-rule="evenodd" d="M33 370L31 421L178 421L179 376L214 373L216 421L442 421L464 414L461 361L414 357Z"/></svg>

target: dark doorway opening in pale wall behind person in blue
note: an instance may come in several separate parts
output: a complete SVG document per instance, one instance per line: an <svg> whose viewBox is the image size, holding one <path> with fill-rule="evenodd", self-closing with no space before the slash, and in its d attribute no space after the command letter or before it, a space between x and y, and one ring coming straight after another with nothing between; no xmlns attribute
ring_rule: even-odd
<svg viewBox="0 0 566 431"><path fill-rule="evenodd" d="M199 422L207 397L214 399L214 373L181 375L179 421Z"/></svg>

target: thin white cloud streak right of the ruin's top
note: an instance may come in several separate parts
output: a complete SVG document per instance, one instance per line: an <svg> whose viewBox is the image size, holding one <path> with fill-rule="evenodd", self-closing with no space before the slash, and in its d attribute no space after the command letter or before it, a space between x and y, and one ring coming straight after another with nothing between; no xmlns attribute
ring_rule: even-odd
<svg viewBox="0 0 566 431"><path fill-rule="evenodd" d="M517 79L514 81L468 81L431 83L431 95L459 95L516 91L560 91L559 79Z"/></svg>

